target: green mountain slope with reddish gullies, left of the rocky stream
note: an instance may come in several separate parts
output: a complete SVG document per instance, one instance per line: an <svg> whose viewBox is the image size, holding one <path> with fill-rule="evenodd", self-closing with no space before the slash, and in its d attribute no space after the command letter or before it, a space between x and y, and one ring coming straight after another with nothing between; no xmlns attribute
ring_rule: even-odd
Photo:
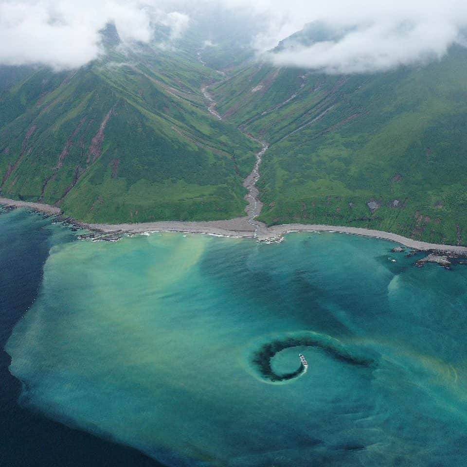
<svg viewBox="0 0 467 467"><path fill-rule="evenodd" d="M257 147L207 112L216 73L183 56L116 60L31 71L0 94L2 195L93 222L243 215Z"/></svg>

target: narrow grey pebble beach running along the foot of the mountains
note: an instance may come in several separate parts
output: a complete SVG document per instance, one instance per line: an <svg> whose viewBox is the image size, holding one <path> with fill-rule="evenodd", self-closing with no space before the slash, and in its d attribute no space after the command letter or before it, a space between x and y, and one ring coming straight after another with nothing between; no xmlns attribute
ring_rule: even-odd
<svg viewBox="0 0 467 467"><path fill-rule="evenodd" d="M44 203L34 203L28 201L18 201L9 198L0 198L0 204L12 206L15 208L29 208L49 216L63 214L61 209ZM321 224L281 224L267 227L259 223L260 226L255 232L255 226L249 223L248 216L235 217L229 220L211 220L211 221L158 221L143 222L136 224L88 224L79 222L66 217L63 220L103 234L144 234L156 232L173 232L182 234L209 234L225 237L256 238L262 242L280 241L284 235L292 232L329 232L340 234L360 235L371 238L379 238L398 243L407 248L420 251L443 251L446 253L461 254L467 256L467 247L458 245L444 245L438 243L429 243L412 238L404 237L391 232L381 230L365 229L363 227L347 227Z"/></svg>

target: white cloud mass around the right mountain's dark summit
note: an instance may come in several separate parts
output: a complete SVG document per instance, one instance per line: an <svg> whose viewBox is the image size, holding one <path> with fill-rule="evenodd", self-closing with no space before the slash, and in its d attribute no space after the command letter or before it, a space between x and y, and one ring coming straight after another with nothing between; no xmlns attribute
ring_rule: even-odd
<svg viewBox="0 0 467 467"><path fill-rule="evenodd" d="M254 45L260 52L306 23L320 21L347 33L329 41L267 54L276 65L328 73L374 72L439 58L449 47L465 45L467 2L460 0L223 0L267 17L268 27Z"/></svg>

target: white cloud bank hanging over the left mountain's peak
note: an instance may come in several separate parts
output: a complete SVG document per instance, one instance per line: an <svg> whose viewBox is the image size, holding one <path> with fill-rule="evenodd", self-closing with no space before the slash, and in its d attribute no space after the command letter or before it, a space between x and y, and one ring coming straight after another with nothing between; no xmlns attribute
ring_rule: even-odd
<svg viewBox="0 0 467 467"><path fill-rule="evenodd" d="M103 53L100 31L108 23L128 45L150 42L161 25L170 29L170 39L178 38L188 21L141 1L0 0L0 63L78 68Z"/></svg>

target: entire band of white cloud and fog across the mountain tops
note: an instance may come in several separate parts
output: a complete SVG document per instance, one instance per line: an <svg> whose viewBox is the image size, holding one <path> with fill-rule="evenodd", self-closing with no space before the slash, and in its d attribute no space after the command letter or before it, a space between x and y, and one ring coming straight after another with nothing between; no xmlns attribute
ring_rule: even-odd
<svg viewBox="0 0 467 467"><path fill-rule="evenodd" d="M196 28L200 16L209 15L215 26L217 15L226 12L255 25L245 38L257 54L266 53L277 65L329 73L388 70L440 58L452 44L464 43L461 31L467 26L467 4L458 0L201 0L196 6L157 0L2 0L0 63L76 68L103 53L99 31L109 22L126 45L135 41L161 45L154 37L161 28L168 30L162 44L166 46L188 28ZM267 53L313 21L344 33L289 42L279 52ZM205 33L205 40L215 43L210 31Z"/></svg>

